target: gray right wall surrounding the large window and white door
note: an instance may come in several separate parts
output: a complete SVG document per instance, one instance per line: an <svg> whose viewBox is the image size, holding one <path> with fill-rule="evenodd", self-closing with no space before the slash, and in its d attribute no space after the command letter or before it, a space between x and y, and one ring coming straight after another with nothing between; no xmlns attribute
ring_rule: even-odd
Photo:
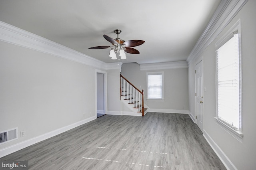
<svg viewBox="0 0 256 170"><path fill-rule="evenodd" d="M204 68L204 134L208 134L228 159L239 170L256 167L256 1L249 0L217 38L203 51ZM215 87L215 43L241 19L242 35L242 142L217 125ZM194 65L189 73L189 110L195 116Z"/></svg>

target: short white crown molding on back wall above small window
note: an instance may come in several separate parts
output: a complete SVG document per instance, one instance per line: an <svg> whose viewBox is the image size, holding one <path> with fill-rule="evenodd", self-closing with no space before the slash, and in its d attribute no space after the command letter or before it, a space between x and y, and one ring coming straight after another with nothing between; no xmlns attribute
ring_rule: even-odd
<svg viewBox="0 0 256 170"><path fill-rule="evenodd" d="M140 70L160 70L160 69L179 69L179 68L188 68L187 61L140 64Z"/></svg>

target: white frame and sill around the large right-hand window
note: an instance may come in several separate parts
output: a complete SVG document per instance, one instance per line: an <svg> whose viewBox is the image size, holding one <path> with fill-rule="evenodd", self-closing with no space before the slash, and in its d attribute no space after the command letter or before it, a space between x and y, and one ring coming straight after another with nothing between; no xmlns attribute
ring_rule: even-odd
<svg viewBox="0 0 256 170"><path fill-rule="evenodd" d="M234 36L234 32L238 33L238 43L239 43L239 98L240 98L240 108L239 108L239 127L238 130L236 130L235 128L232 127L232 125L230 125L229 123L227 123L226 121L224 121L223 119L218 117L218 68L217 68L217 50L222 47L222 45L224 45L226 42L228 42L233 36ZM239 140L240 142L242 142L242 137L244 136L242 134L242 53L241 53L241 25L240 25L240 19L238 20L238 22L236 22L236 24L234 24L234 26L232 26L232 28L226 32L226 34L220 38L220 40L218 40L218 42L216 42L215 45L215 56L216 56L216 72L215 72L215 82L216 82L216 117L214 117L216 119L216 122L218 123L218 125L220 125L220 127L224 128L224 130L226 130L227 132L229 132L232 136L234 136L237 140Z"/></svg>

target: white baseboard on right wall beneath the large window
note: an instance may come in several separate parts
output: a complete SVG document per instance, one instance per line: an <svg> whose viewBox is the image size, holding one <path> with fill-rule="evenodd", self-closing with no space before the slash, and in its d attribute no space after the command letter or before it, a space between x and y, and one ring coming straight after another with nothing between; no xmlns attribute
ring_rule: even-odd
<svg viewBox="0 0 256 170"><path fill-rule="evenodd" d="M210 144L214 152L217 154L217 156L220 158L221 162L224 164L227 170L237 170L234 164L228 159L228 156L226 156L226 154L220 149L220 147L214 142L214 140L212 140L212 138L205 130L203 136Z"/></svg>

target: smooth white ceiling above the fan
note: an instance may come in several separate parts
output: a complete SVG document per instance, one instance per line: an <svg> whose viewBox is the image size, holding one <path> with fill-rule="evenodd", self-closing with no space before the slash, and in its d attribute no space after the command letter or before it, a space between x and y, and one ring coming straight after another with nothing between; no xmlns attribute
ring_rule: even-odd
<svg viewBox="0 0 256 170"><path fill-rule="evenodd" d="M221 0L1 0L0 20L106 63L103 34L144 40L123 63L185 61Z"/></svg>

